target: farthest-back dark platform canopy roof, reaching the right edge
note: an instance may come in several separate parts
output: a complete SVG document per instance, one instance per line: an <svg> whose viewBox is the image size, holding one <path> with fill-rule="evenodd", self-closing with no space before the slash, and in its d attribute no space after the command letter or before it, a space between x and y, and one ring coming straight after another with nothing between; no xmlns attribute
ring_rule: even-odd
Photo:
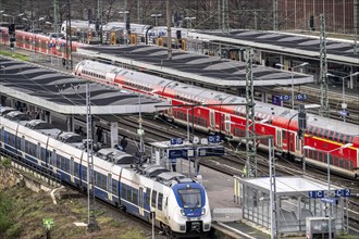
<svg viewBox="0 0 359 239"><path fill-rule="evenodd" d="M268 51L284 52L295 55L319 58L319 37L264 30L233 30L230 34L218 32L190 32L193 38L200 40L221 41L234 46L248 46ZM339 39L327 39L327 60L358 64L358 55L354 53L354 42Z"/></svg>

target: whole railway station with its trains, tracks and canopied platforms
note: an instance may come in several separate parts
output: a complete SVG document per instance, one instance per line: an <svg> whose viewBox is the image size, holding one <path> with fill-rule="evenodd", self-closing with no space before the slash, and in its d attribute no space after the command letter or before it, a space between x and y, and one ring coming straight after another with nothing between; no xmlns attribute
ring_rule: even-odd
<svg viewBox="0 0 359 239"><path fill-rule="evenodd" d="M13 155L14 162L39 169L36 174L41 177L50 172L55 180L79 190L88 187L92 200L151 224L152 238L154 225L161 235L199 232L199 238L358 236L358 97L350 96L359 87L357 36L356 41L324 37L324 45L314 34L230 30L230 26L225 33L227 7L221 1L222 32L193 29L196 17L189 17L187 9L183 18L187 28L172 28L171 59L163 48L170 29L158 26L162 14L150 15L156 27L131 25L134 11L124 8L119 13L125 23L103 25L88 18L76 28L79 22L71 26L67 20L63 25L53 23L61 30L54 27L58 33L48 36L34 33L34 22L41 25L44 17L32 20L32 33L11 34L14 24L9 30L0 26L0 43L11 53L21 49L30 52L30 61L36 54L46 59L39 67L0 56L0 106L69 133L86 125L85 115L91 114L91 133L97 127L104 136L101 140L91 136L94 146L100 143L89 153L90 143L84 140L82 147L62 143L59 135L53 138L1 115L0 160ZM9 15L1 8L1 16L13 22L26 14ZM257 25L257 10L255 14ZM144 42L137 43L139 39ZM53 58L61 73L50 68ZM44 67L50 60L51 66ZM76 61L84 63L75 66ZM248 88L249 80L253 89ZM325 80L326 89L327 85L342 89L343 84L343 93L325 90L331 95L326 110ZM165 110L159 113L158 108ZM119 136L129 138L127 151L127 141L122 147ZM90 215L92 202L88 203ZM215 232L210 232L212 228Z"/></svg>

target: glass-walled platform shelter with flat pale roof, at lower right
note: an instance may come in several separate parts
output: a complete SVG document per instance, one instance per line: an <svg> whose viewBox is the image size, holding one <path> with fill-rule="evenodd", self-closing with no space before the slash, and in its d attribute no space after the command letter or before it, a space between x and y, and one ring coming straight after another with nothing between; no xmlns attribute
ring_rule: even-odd
<svg viewBox="0 0 359 239"><path fill-rule="evenodd" d="M275 177L273 185L275 187L272 186L271 200L270 177L234 176L234 201L242 207L244 223L265 232L270 232L273 228L276 235L282 237L305 236L307 217L331 215L333 235L347 230L348 222L345 219L347 211L344 209L347 209L347 197L350 193L348 189L332 185L329 191L327 181L295 176ZM271 217L271 202L273 217Z"/></svg>

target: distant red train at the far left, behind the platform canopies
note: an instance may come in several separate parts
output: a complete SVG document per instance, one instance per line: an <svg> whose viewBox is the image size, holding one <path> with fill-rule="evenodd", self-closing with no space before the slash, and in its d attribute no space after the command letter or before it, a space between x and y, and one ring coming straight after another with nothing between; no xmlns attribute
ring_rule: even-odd
<svg viewBox="0 0 359 239"><path fill-rule="evenodd" d="M0 27L0 42L10 46L10 36L8 27ZM66 52L66 39L61 34L33 34L24 30L15 30L15 48L30 50L37 53L44 53L53 56L69 58ZM85 45L77 41L72 41L72 51Z"/></svg>

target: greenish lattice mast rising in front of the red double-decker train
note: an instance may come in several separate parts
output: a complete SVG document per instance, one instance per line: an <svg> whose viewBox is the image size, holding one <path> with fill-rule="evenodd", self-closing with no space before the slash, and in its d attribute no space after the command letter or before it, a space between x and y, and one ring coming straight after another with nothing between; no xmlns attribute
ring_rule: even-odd
<svg viewBox="0 0 359 239"><path fill-rule="evenodd" d="M256 114L255 114L255 90L252 62L253 52L251 48L246 49L246 152L247 152L247 175L257 177L257 143L256 143ZM252 140L252 143L250 141Z"/></svg>

